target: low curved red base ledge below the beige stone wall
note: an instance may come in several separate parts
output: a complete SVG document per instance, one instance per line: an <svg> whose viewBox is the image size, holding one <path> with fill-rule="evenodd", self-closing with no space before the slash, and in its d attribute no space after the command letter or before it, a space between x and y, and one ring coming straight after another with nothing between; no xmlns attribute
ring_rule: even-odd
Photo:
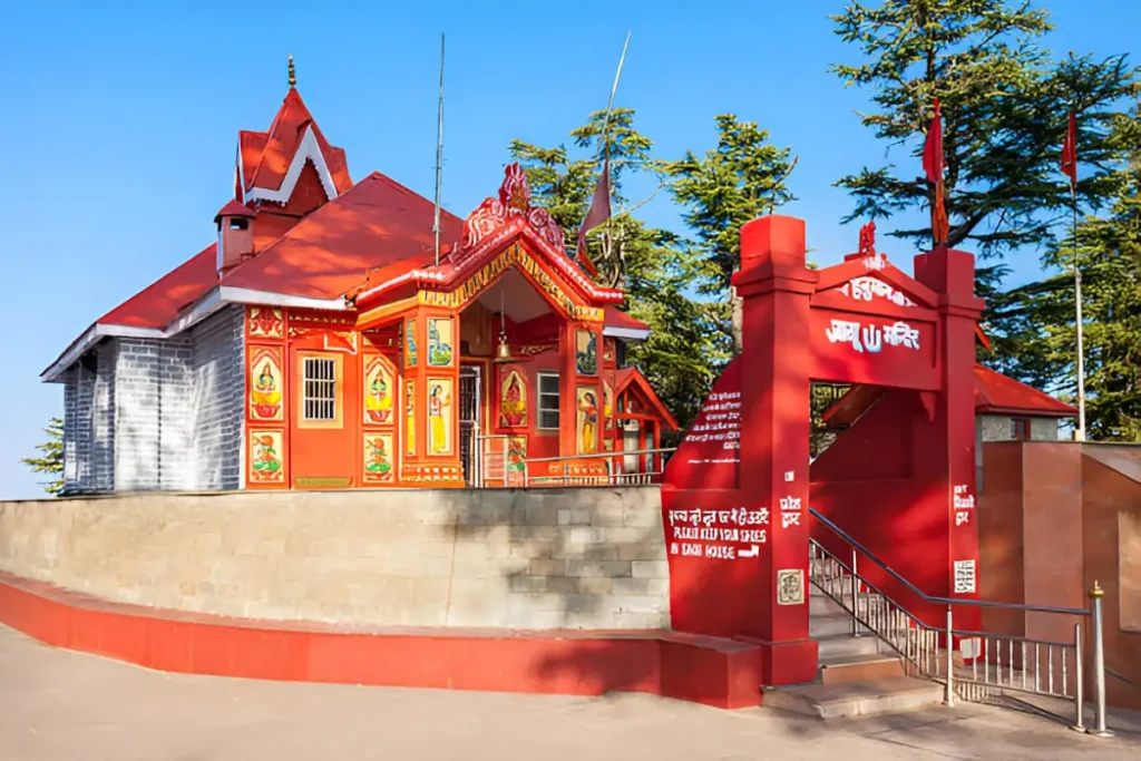
<svg viewBox="0 0 1141 761"><path fill-rule="evenodd" d="M38 640L178 673L510 693L649 693L760 705L759 649L671 632L349 633L119 605L0 574L0 623Z"/></svg>

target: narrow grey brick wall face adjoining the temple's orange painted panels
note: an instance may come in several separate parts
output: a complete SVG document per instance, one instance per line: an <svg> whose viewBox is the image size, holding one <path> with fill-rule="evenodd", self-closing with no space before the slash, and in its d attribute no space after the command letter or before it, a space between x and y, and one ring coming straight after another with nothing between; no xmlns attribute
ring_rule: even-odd
<svg viewBox="0 0 1141 761"><path fill-rule="evenodd" d="M245 311L228 306L192 332L194 423L192 477L196 489L242 488L245 436Z"/></svg>

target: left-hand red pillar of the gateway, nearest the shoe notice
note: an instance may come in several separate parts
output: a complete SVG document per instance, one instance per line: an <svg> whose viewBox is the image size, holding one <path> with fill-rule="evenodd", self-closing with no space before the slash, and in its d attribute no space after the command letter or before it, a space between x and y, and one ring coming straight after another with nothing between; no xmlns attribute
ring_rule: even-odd
<svg viewBox="0 0 1141 761"><path fill-rule="evenodd" d="M762 643L767 685L811 681L816 641L808 633L808 465L810 297L804 222L769 216L741 230L744 300L739 499L767 509L768 542L750 574L752 599L741 634Z"/></svg>

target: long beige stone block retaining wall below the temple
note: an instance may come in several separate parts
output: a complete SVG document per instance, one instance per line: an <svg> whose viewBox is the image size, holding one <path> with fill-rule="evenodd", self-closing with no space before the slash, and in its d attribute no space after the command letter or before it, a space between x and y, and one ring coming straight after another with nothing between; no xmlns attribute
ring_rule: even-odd
<svg viewBox="0 0 1141 761"><path fill-rule="evenodd" d="M657 487L0 502L0 569L110 600L227 616L669 626Z"/></svg>

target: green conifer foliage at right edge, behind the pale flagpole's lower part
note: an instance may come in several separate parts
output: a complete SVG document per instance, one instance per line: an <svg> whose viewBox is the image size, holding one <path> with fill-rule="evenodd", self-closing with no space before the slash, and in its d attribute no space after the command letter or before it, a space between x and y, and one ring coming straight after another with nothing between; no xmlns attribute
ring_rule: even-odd
<svg viewBox="0 0 1141 761"><path fill-rule="evenodd" d="M1109 213L1077 226L1082 273L1086 432L1091 440L1141 443L1141 106L1119 115L1110 136L1132 155L1107 180ZM1001 293L990 322L989 364L1076 403L1073 228L1042 258L1057 274Z"/></svg>

